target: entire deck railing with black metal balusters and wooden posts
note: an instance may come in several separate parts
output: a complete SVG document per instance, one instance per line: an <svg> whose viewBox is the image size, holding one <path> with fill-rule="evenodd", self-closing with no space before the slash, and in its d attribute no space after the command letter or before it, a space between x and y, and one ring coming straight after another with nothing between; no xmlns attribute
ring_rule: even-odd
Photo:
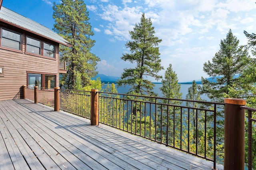
<svg viewBox="0 0 256 170"><path fill-rule="evenodd" d="M31 96L36 90L37 88L34 91L24 86L24 98L33 100ZM54 91L47 91L51 93L48 95L51 96L50 98L54 92L55 99L51 101L54 101L55 111L61 109L91 119L91 125L98 125L100 122L210 160L213 162L212 169L216 169L216 163L223 164L223 162L225 170L238 168L238 165L238 169L244 168L244 156L242 156L244 154L244 109L249 110L249 129L252 129L252 121L256 121L251 112L256 110L245 107L244 100L242 100L244 103L234 103L237 99L225 99L224 104L113 94L97 90L86 92L55 88ZM47 96L47 93L37 94ZM35 95L34 98L38 97ZM41 101L38 100L38 102ZM46 101L48 102L49 99ZM224 120L225 142L229 140L232 143L232 145L225 145L225 153L224 133L222 133ZM255 128L255 124L253 127ZM252 167L251 132L252 130L249 130L249 169Z"/></svg>

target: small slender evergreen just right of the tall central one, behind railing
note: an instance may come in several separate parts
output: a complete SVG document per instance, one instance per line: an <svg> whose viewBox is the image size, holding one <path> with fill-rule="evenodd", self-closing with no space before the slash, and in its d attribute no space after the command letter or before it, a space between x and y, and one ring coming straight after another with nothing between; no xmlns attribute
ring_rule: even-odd
<svg viewBox="0 0 256 170"><path fill-rule="evenodd" d="M169 64L169 67L166 69L164 74L164 79L162 80L162 87L160 90L165 98L162 102L168 105L176 105L180 106L182 102L178 100L172 99L181 99L182 93L180 93L180 84L178 84L177 74L172 70L172 64ZM174 116L175 112L175 116ZM156 116L156 124L157 124L157 139L162 142L167 142L170 145L178 147L179 141L179 132L180 132L180 110L174 111L174 107L171 106L161 106L158 108L158 114ZM175 122L175 123L174 123ZM167 124L168 123L168 124ZM173 128L175 126L175 130ZM168 134L167 134L168 129ZM175 141L173 136L175 135ZM161 136L162 135L162 136ZM168 140L167 140L168 138ZM176 146L177 145L177 146Z"/></svg>

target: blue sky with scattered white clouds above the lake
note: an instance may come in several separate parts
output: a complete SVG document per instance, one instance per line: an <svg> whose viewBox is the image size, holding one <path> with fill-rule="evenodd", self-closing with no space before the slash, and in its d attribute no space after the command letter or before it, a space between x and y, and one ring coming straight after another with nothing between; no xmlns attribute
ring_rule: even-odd
<svg viewBox="0 0 256 170"><path fill-rule="evenodd" d="M53 2L58 0L3 0L2 6L52 29ZM151 18L155 35L162 39L160 57L166 69L172 64L179 82L208 77L203 64L212 61L220 40L229 29L246 45L243 31L256 33L253 0L85 0L96 40L92 53L100 57L99 74L121 76L135 64L122 61L128 53L129 31L144 12ZM164 75L165 70L159 72ZM156 82L153 78L149 80Z"/></svg>

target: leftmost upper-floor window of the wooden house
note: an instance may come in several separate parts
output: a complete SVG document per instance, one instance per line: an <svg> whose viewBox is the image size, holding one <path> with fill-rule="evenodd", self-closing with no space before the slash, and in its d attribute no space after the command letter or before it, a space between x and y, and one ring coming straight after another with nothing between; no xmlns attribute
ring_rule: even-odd
<svg viewBox="0 0 256 170"><path fill-rule="evenodd" d="M12 49L21 49L21 34L2 29L1 45Z"/></svg>

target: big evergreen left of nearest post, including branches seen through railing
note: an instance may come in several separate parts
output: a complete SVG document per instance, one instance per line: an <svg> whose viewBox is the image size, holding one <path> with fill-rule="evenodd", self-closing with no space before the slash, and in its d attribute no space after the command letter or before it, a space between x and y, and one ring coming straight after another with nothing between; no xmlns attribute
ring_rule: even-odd
<svg viewBox="0 0 256 170"><path fill-rule="evenodd" d="M220 41L220 50L212 58L212 63L204 63L204 72L208 76L216 78L216 81L210 81L202 78L201 94L207 94L213 102L223 102L225 97L232 97L230 87L239 82L236 75L241 75L243 70L248 67L250 56L248 49L239 45L239 40L232 34L231 29L226 35L226 39ZM218 158L224 157L224 109L217 108L216 121L216 148ZM213 117L208 121L213 122ZM207 130L208 135L213 136L211 129Z"/></svg>

